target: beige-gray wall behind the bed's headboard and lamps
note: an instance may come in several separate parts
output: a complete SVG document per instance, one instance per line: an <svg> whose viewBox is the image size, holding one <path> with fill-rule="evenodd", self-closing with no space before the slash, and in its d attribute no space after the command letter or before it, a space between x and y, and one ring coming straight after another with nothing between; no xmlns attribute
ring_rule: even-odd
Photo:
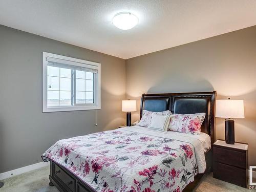
<svg viewBox="0 0 256 192"><path fill-rule="evenodd" d="M218 99L244 99L235 137L249 143L249 165L256 165L256 26L126 60L126 97L137 99L138 109L142 93L212 90ZM217 118L216 139L224 138Z"/></svg>

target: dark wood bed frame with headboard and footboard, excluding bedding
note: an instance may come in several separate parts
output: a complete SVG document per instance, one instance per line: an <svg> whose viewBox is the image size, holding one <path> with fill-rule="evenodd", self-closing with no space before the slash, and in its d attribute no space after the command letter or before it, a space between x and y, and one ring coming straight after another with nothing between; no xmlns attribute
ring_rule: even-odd
<svg viewBox="0 0 256 192"><path fill-rule="evenodd" d="M216 91L196 93L143 94L141 97L140 118L142 111L165 111L178 114L206 113L201 132L211 137L211 148L205 153L206 171L212 170L212 144L215 142L215 104ZM195 181L189 183L183 191L192 191L204 174L198 174ZM50 186L56 186L61 192L95 192L90 185L79 179L62 165L50 161Z"/></svg>

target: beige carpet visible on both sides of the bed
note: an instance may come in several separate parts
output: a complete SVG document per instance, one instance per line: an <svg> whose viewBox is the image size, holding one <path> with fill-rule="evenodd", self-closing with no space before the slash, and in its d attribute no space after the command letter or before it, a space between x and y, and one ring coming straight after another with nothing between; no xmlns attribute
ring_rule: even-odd
<svg viewBox="0 0 256 192"><path fill-rule="evenodd" d="M58 192L56 187L50 187L49 167L40 168L31 172L5 179L1 192ZM224 192L224 191L253 191L214 179L212 173L207 173L194 191ZM256 191L256 190L255 190Z"/></svg>

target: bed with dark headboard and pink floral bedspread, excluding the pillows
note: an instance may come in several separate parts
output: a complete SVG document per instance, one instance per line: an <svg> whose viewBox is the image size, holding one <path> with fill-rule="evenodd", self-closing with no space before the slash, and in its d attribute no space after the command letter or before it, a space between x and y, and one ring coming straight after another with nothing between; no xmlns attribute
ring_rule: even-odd
<svg viewBox="0 0 256 192"><path fill-rule="evenodd" d="M201 135L132 126L56 142L45 154L59 191L191 191L212 167L216 92L143 94L143 110L205 113Z"/></svg>

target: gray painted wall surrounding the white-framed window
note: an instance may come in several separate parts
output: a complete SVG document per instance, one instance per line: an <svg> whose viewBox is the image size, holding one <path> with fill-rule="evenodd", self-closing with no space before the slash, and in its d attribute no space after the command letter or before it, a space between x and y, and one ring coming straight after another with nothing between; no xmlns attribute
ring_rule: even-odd
<svg viewBox="0 0 256 192"><path fill-rule="evenodd" d="M86 37L84 37L86 38ZM101 110L42 113L42 51L101 63ZM57 140L123 125L125 60L0 25L0 173Z"/></svg>

